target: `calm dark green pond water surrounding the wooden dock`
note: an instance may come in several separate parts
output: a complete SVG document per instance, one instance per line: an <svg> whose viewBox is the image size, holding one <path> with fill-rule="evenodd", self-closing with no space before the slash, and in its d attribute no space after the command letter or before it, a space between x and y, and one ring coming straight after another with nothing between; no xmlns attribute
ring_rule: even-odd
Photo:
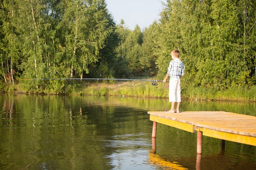
<svg viewBox="0 0 256 170"><path fill-rule="evenodd" d="M158 125L166 99L0 95L0 169L256 169L256 147ZM182 111L256 116L255 103L184 101Z"/></svg>

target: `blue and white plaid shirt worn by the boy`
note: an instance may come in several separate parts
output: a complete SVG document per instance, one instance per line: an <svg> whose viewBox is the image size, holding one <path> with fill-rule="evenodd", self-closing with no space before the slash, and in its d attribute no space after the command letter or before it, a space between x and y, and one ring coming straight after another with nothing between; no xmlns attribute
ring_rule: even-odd
<svg viewBox="0 0 256 170"><path fill-rule="evenodd" d="M170 75L170 79L179 79L181 75L184 75L184 71L185 66L183 62L179 58L175 58L170 62L167 73Z"/></svg>

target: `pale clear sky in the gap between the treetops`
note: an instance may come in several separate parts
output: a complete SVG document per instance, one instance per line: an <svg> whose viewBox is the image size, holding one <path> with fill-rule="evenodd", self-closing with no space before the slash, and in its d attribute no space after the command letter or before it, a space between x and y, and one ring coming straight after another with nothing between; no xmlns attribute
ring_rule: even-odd
<svg viewBox="0 0 256 170"><path fill-rule="evenodd" d="M105 0L107 8L116 24L125 21L129 29L138 24L141 29L149 27L160 19L163 0Z"/></svg>

